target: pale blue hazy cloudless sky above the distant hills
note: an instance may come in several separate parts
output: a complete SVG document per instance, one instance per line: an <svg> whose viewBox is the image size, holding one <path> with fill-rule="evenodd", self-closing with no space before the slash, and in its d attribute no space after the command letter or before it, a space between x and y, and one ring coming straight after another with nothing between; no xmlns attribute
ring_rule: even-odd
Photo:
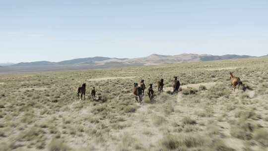
<svg viewBox="0 0 268 151"><path fill-rule="evenodd" d="M0 63L268 54L268 0L0 0Z"/></svg>

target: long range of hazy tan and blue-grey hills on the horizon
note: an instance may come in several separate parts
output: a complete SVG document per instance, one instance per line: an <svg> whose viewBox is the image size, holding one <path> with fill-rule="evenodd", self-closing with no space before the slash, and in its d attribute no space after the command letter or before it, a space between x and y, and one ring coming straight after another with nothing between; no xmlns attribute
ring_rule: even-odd
<svg viewBox="0 0 268 151"><path fill-rule="evenodd" d="M226 60L226 59L238 59L238 58L249 58L252 56L246 55L198 55L198 54L180 54L180 55L158 55L152 54L142 58L109 58L109 57L92 57L92 58L79 58L66 60L61 62L30 62L30 63L18 63L12 67L37 67L37 66L103 66L103 67L121 67L121 66L134 66L134 65L156 65L156 64L177 64L185 62L197 62L197 61L215 61L215 60Z"/></svg>

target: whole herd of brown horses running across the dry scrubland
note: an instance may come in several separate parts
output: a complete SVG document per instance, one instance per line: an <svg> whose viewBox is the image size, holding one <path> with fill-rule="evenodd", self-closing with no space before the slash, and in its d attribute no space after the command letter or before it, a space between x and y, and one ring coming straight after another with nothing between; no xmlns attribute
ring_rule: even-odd
<svg viewBox="0 0 268 151"><path fill-rule="evenodd" d="M233 73L230 73L230 80L231 80L231 86L233 86L233 90L235 91L236 86L238 85L238 88L240 85L243 85L242 81L240 80L239 77L234 76ZM164 87L164 79L161 78L158 82L158 94L161 94L163 92L163 87ZM149 88L147 89L147 94L150 99L150 101L153 99L154 96L154 90L153 90L153 83L149 84ZM174 76L174 80L172 81L172 87L173 87L173 92L172 94L178 93L180 89L180 81L178 80L178 76ZM142 97L144 96L144 90L146 89L144 79L141 79L139 83L134 82L134 87L132 90L132 94L135 97L135 100L137 103L142 104ZM85 92L86 92L86 83L83 83L82 86L78 87L77 89L77 96L79 99L79 94L81 93L81 100L84 95L84 100L85 100ZM90 92L90 100L94 101L95 100L95 87L92 87L91 92Z"/></svg>

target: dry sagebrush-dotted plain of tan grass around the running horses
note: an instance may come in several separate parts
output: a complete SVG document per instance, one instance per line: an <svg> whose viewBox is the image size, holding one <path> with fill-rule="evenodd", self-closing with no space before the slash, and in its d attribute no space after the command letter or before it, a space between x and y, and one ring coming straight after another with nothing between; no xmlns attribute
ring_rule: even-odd
<svg viewBox="0 0 268 151"><path fill-rule="evenodd" d="M231 90L230 72L244 90ZM170 94L174 75L182 84L177 95ZM140 79L156 92L142 105L131 94ZM0 74L0 151L11 150L268 151L268 57Z"/></svg>

